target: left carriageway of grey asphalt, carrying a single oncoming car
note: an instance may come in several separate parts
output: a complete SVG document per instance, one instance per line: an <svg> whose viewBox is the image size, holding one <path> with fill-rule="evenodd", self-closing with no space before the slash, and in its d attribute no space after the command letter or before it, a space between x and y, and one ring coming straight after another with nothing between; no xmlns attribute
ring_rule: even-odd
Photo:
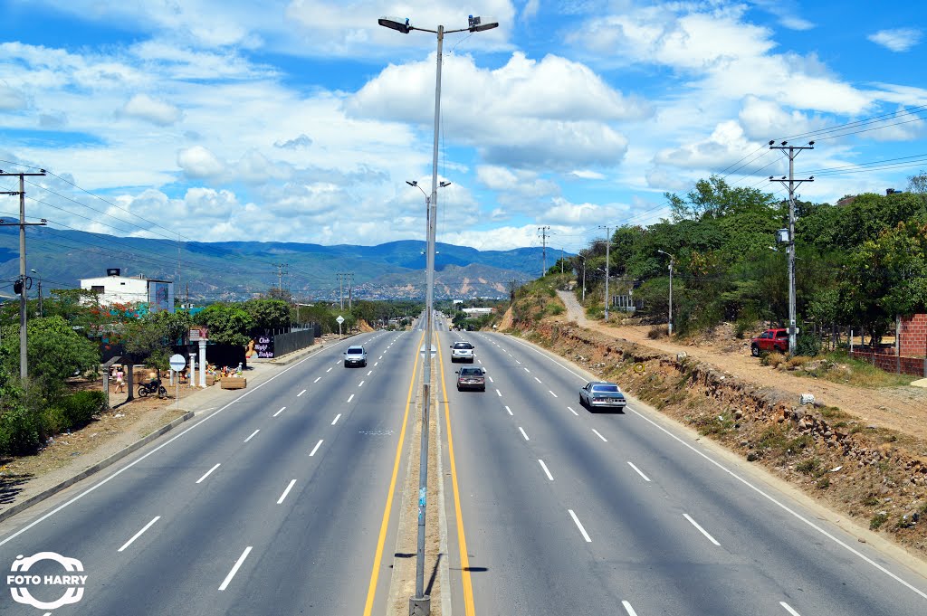
<svg viewBox="0 0 927 616"><path fill-rule="evenodd" d="M368 346L367 368L340 365L344 344L324 349L0 535L0 562L81 559L84 597L62 613L362 613L419 337L352 338ZM377 609L387 586L381 576Z"/></svg>

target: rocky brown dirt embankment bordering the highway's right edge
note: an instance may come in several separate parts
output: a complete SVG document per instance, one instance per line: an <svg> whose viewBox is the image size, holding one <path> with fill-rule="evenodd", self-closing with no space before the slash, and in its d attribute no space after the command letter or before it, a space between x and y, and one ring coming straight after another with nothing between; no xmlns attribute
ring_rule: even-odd
<svg viewBox="0 0 927 616"><path fill-rule="evenodd" d="M927 439L574 324L522 334L927 558Z"/></svg>

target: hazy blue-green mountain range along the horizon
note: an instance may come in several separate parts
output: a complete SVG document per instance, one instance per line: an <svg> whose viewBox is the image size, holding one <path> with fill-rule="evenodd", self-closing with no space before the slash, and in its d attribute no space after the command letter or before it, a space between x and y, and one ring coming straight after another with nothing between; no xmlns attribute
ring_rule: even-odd
<svg viewBox="0 0 927 616"><path fill-rule="evenodd" d="M244 299L282 284L300 299L334 299L338 272L352 274L354 298L425 296L425 242L375 246L290 242L183 242L116 237L102 233L32 227L27 231L28 268L44 292L74 288L81 278L123 275L179 281L177 292L197 301ZM179 251L178 251L179 248ZM541 248L477 250L438 244L437 298L504 296L509 283L536 278ZM548 263L558 256L549 255ZM19 275L19 230L0 227L0 295L12 295ZM347 296L347 287L344 292Z"/></svg>

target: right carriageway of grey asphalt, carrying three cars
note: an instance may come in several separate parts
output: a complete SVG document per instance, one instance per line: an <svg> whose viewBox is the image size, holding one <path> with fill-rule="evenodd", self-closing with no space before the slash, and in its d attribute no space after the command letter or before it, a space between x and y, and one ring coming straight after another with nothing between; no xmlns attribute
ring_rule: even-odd
<svg viewBox="0 0 927 616"><path fill-rule="evenodd" d="M755 483L794 514L773 504L642 409L580 408L576 368L498 334L442 334L442 350L461 337L491 379L456 392L445 355L476 613L925 610L916 574Z"/></svg>

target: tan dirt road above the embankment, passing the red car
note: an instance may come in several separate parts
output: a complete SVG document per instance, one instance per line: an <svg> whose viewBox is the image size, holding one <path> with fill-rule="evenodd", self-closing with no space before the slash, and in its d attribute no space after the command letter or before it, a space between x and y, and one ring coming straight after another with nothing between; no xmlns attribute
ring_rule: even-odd
<svg viewBox="0 0 927 616"><path fill-rule="evenodd" d="M675 355L684 352L733 376L792 392L796 403L800 394L812 394L815 400L844 409L873 425L927 439L927 389L913 386L864 389L797 376L761 365L759 359L750 356L749 341L724 340L720 344L705 341L705 344L696 346L694 343L670 342L667 338L651 340L647 337L649 326L622 326L590 321L575 295L568 291L558 291L557 294L564 302L568 320L576 321L582 327L664 353Z"/></svg>

